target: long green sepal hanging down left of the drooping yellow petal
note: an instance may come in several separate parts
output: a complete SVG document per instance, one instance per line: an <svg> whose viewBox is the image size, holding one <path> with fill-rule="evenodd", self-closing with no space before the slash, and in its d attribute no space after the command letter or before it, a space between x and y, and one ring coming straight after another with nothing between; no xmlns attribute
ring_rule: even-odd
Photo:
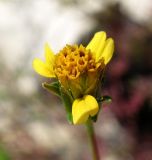
<svg viewBox="0 0 152 160"><path fill-rule="evenodd" d="M73 117L72 117L72 101L71 98L68 94L66 94L64 91L62 91L62 88L60 88L60 93L61 93L61 99L62 102L65 106L65 110L66 110L66 117L67 120L70 124L73 124Z"/></svg>

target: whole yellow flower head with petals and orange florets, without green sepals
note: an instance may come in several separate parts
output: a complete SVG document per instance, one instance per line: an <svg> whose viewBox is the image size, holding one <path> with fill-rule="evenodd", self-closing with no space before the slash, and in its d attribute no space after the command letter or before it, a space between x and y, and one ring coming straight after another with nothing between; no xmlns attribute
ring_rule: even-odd
<svg viewBox="0 0 152 160"><path fill-rule="evenodd" d="M54 54L45 45L45 61L36 58L33 68L44 77L57 78L67 94L72 95L74 124L82 124L98 113L95 99L102 71L112 58L114 41L106 33L97 32L87 47L66 45Z"/></svg>

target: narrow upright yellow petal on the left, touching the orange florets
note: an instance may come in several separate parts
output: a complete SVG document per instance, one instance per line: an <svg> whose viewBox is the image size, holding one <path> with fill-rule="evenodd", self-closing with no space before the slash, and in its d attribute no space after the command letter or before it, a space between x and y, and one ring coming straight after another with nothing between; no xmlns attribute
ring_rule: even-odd
<svg viewBox="0 0 152 160"><path fill-rule="evenodd" d="M45 60L46 63L51 65L51 67L53 68L55 55L47 43L45 44Z"/></svg>

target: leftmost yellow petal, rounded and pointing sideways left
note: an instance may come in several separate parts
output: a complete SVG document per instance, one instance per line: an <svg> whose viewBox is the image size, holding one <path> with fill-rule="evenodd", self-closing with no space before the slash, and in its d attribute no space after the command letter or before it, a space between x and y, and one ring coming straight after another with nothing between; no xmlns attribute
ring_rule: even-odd
<svg viewBox="0 0 152 160"><path fill-rule="evenodd" d="M38 58L35 58L33 60L33 68L41 76L44 76L44 77L55 77L55 75L53 73L53 70L51 70L51 68L49 68L46 63L44 63L43 61L41 61Z"/></svg>

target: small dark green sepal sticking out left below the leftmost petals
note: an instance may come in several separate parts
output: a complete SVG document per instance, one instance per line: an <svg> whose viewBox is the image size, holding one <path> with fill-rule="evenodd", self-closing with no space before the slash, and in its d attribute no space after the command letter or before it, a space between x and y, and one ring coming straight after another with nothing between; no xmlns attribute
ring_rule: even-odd
<svg viewBox="0 0 152 160"><path fill-rule="evenodd" d="M42 87L44 89L47 89L48 91L50 91L51 93L54 93L57 96L61 96L61 92L60 92L60 84L58 81L52 82L52 83L47 83L44 82L42 83Z"/></svg>

